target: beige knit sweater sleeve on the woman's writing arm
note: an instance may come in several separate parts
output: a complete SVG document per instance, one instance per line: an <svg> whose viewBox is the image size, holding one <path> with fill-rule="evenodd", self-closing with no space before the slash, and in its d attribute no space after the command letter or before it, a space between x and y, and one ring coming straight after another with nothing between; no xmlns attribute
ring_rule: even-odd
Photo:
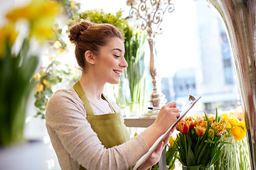
<svg viewBox="0 0 256 170"><path fill-rule="evenodd" d="M52 142L55 141L51 136L58 136L60 140L53 146L60 166L60 159L65 159L58 153L62 152L60 148L86 169L128 169L149 150L139 135L122 145L106 149L86 119L82 100L71 90L56 91L50 98L46 108L46 127ZM62 146L58 148L58 145Z"/></svg>

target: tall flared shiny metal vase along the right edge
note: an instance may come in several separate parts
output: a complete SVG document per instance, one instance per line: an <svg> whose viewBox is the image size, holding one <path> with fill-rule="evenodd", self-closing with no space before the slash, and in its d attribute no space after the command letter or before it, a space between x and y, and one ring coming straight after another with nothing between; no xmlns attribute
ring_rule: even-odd
<svg viewBox="0 0 256 170"><path fill-rule="evenodd" d="M208 0L228 30L245 113L251 169L256 169L256 0Z"/></svg>

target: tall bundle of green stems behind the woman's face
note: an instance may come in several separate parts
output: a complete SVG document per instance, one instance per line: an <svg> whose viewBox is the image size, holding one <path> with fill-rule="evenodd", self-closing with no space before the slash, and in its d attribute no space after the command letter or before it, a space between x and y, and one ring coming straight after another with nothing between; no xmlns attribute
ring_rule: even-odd
<svg viewBox="0 0 256 170"><path fill-rule="evenodd" d="M139 111L142 113L146 108L146 79L144 67L144 42L146 35L142 31L133 33L129 29L125 34L124 47L126 53L124 55L127 60L128 67L126 77L129 81L130 101L127 101L130 111L134 112L134 106L139 106Z"/></svg>

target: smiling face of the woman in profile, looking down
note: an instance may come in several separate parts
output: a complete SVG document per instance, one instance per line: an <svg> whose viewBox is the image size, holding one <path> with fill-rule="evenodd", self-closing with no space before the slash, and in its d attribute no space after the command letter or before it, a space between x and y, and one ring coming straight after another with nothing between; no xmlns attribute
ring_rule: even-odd
<svg viewBox="0 0 256 170"><path fill-rule="evenodd" d="M124 59L124 42L119 38L108 38L107 45L100 47L95 57L93 72L101 81L118 84L124 68L128 67Z"/></svg>

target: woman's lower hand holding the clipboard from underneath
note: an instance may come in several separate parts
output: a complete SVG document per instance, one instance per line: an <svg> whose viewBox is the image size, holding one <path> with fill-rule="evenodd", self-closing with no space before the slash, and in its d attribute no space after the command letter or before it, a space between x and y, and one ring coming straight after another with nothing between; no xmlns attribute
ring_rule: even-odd
<svg viewBox="0 0 256 170"><path fill-rule="evenodd" d="M150 169L151 166L154 166L154 164L159 162L161 153L163 152L165 145L168 143L172 132L174 132L174 130L172 130L169 135L159 143L159 146L156 148L156 150L150 154L149 158L146 159L146 161L142 164L142 166L139 167L139 169Z"/></svg>

